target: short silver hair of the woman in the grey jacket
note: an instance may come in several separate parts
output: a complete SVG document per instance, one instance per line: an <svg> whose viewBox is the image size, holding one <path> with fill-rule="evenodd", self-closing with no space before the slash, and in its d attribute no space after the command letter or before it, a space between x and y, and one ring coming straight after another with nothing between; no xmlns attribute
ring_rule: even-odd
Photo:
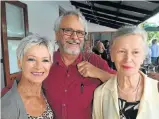
<svg viewBox="0 0 159 119"><path fill-rule="evenodd" d="M32 34L28 35L27 37L23 38L16 50L17 59L21 60L23 59L24 54L30 49L31 47L35 45L44 45L49 51L49 54L51 56L51 61L53 59L53 45L50 40L40 37L38 34ZM38 51L37 51L38 52Z"/></svg>

